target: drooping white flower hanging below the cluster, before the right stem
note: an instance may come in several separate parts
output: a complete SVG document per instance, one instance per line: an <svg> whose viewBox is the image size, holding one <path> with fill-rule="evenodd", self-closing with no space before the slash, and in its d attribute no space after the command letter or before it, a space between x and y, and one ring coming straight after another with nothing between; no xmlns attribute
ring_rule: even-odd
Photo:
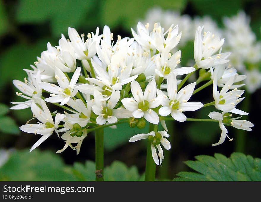
<svg viewBox="0 0 261 202"><path fill-rule="evenodd" d="M158 131L156 133L152 131L150 133L141 133L141 134L134 135L133 137L130 138L129 142L136 142L138 140L148 138L149 141L151 141L152 158L157 165L160 164L161 166L162 160L164 159L164 155L160 143L163 145L163 147L166 150L169 150L171 148L170 142L165 137L169 137L169 134L165 130ZM157 147L157 150L159 152L158 155L155 146ZM158 157L160 158L160 161Z"/></svg>

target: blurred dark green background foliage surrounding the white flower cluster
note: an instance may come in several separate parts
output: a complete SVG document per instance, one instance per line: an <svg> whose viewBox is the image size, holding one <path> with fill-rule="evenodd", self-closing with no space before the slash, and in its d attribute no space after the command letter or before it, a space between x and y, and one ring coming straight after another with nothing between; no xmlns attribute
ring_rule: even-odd
<svg viewBox="0 0 261 202"><path fill-rule="evenodd" d="M96 27L100 28L101 33L103 26L109 25L114 37L131 36L130 27L136 29L138 20L144 19L147 10L155 6L163 10L176 10L191 17L209 15L219 26L222 26L222 17L229 17L244 10L251 17L251 28L260 40L260 1L0 1L0 148L2 148L0 150L0 180L94 179L93 134L88 134L79 155L69 148L61 154L55 153L64 145L64 142L55 135L29 153L29 148L39 136L25 134L18 128L31 119L30 109L9 110L10 101L22 100L15 95L17 89L12 85L12 80L23 81L26 76L23 68L30 68L29 65L36 61L36 56L40 56L41 52L46 50L48 41L55 46L58 45L61 33L68 37L69 26L76 28L79 33L87 34L95 31ZM187 63L188 58L193 59L192 41L184 47L182 53L184 55L181 61L184 64ZM211 89L209 92L211 93ZM211 144L219 140L221 132L218 124L168 122L169 126L173 125L170 137L172 148L169 151L164 150L164 155L168 156L166 159L169 160L164 159L162 168L158 166L157 178L173 179L179 171L188 170L182 162L192 160L196 155L222 153L229 156L234 151L241 151L253 157L261 157L260 92L259 89L252 95L246 95L249 104L244 106L242 102L238 107L249 108L249 121L255 125L253 131L241 134L242 132L230 127L229 135L234 138L234 141L225 141L217 147ZM193 99L211 101L210 97L205 97L205 95L206 92L200 92ZM55 110L52 106L50 108L51 111ZM207 118L211 110L214 108L203 108L197 113L188 113L187 117ZM128 142L131 136L141 132L146 132L146 129L129 129L128 125L119 125L117 130L105 131L105 166L109 166L106 171L107 180L142 178L146 159L146 141ZM237 137L240 137L238 141ZM121 172L122 176L115 179L114 172Z"/></svg>

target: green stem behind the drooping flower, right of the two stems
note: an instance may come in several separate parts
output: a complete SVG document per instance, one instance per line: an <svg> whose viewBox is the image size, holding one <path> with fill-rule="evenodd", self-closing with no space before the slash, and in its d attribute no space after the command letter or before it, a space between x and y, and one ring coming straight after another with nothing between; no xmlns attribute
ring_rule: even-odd
<svg viewBox="0 0 261 202"><path fill-rule="evenodd" d="M157 125L149 124L149 132L157 130ZM146 157L146 168L145 168L145 181L155 181L156 174L156 163L152 158L151 153L151 141L148 140L147 143L147 157Z"/></svg>

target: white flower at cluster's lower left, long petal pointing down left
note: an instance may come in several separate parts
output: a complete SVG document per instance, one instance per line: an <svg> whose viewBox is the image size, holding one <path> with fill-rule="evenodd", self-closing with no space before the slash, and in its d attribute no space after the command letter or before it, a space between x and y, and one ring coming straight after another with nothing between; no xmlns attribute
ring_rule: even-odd
<svg viewBox="0 0 261 202"><path fill-rule="evenodd" d="M52 115L47 108L45 102L41 99L41 108L34 102L31 105L33 116L36 117L40 122L38 124L25 124L20 127L20 130L27 133L41 134L42 137L32 146L30 151L38 147L44 140L51 136L53 131L57 131L58 124L65 118L64 114L57 113L55 121L52 119ZM58 134L58 133L57 133Z"/></svg>

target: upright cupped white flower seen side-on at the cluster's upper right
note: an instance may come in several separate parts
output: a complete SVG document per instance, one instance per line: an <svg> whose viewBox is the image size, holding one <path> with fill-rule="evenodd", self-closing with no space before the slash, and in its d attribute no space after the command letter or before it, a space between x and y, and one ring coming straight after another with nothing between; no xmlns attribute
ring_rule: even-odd
<svg viewBox="0 0 261 202"><path fill-rule="evenodd" d="M215 37L213 33L203 32L204 27L198 27L194 41L194 59L198 68L208 69L229 62L230 52L214 55L221 49L225 39Z"/></svg>

